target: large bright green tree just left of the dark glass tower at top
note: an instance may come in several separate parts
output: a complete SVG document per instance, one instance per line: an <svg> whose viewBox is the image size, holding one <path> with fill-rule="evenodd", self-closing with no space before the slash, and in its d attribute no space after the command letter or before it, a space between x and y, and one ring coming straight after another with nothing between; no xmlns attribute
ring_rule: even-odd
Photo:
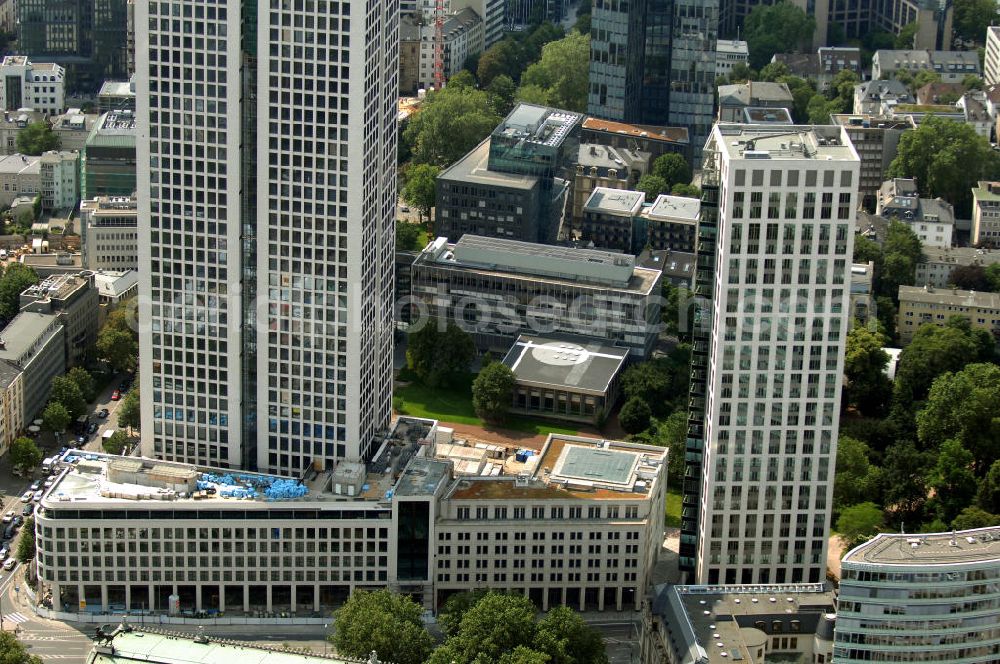
<svg viewBox="0 0 1000 664"><path fill-rule="evenodd" d="M517 97L583 113L587 110L590 35L571 32L542 47L541 59L521 77Z"/></svg>

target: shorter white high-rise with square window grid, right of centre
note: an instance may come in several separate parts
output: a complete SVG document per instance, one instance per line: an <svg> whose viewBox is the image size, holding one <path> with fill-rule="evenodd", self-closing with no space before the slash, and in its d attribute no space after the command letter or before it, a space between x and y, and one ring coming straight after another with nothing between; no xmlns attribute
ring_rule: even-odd
<svg viewBox="0 0 1000 664"><path fill-rule="evenodd" d="M841 127L716 125L705 146L719 189L696 583L825 578L859 169Z"/></svg>

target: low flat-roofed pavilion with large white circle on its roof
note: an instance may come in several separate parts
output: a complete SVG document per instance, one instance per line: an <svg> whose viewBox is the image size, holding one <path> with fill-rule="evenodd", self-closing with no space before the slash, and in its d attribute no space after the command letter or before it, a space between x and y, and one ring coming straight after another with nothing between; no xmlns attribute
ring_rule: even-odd
<svg viewBox="0 0 1000 664"><path fill-rule="evenodd" d="M503 359L517 379L510 410L600 424L618 401L628 354L568 336L522 334Z"/></svg>

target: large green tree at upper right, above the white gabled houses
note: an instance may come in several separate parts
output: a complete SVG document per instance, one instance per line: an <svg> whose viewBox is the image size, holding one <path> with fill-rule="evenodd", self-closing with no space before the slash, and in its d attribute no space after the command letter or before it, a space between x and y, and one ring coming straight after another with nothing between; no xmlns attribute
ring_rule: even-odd
<svg viewBox="0 0 1000 664"><path fill-rule="evenodd" d="M940 196L959 219L972 214L972 188L1000 175L1000 153L972 125L928 116L899 139L890 178L916 178L920 195Z"/></svg>

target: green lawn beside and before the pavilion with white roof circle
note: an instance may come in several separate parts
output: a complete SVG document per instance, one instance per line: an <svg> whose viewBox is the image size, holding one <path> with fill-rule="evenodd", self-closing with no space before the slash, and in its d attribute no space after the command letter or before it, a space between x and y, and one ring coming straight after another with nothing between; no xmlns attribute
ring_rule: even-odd
<svg viewBox="0 0 1000 664"><path fill-rule="evenodd" d="M407 377L401 375L400 378L405 380ZM488 427L489 425L476 417L476 411L472 407L473 378L474 376L470 374L467 381L436 388L411 382L396 388L396 405L401 405L404 414L413 417L426 417L454 424ZM399 400L402 400L402 404L399 404ZM515 415L509 416L502 428L535 435L548 433L573 435L579 433L579 429L569 423L554 424Z"/></svg>

